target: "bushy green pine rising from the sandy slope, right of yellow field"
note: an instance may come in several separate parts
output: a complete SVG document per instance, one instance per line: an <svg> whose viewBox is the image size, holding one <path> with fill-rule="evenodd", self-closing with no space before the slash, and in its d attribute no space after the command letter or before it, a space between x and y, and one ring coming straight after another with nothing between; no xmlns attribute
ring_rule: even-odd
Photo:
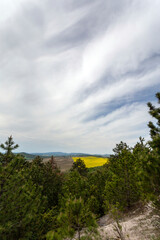
<svg viewBox="0 0 160 240"><path fill-rule="evenodd" d="M136 182L136 168L133 154L126 143L114 149L109 161L108 178L105 186L106 204L119 203L122 208L130 208L139 199Z"/></svg>

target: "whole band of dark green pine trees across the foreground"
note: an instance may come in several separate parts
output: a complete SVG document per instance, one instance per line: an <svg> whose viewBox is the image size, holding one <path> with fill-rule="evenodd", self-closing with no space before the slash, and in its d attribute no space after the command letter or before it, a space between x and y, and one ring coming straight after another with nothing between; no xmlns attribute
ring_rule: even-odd
<svg viewBox="0 0 160 240"><path fill-rule="evenodd" d="M156 94L160 104L160 93ZM31 162L12 136L1 144L0 239L100 239L97 219L115 207L129 211L138 202L160 208L160 107L148 103L151 140L134 147L120 142L109 163L89 171L81 159L62 173L54 157Z"/></svg>

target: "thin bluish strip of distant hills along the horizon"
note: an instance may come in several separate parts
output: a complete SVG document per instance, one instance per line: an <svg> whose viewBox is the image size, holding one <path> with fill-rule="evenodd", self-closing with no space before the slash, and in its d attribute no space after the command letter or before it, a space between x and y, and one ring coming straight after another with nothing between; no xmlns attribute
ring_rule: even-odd
<svg viewBox="0 0 160 240"><path fill-rule="evenodd" d="M43 158L51 157L52 155L55 157L84 157L84 156L96 156L96 157L109 157L110 154L87 154L87 153L64 153L64 152L46 152L46 153L26 153L20 152L22 156L24 156L27 160L31 160L36 156L41 156Z"/></svg>

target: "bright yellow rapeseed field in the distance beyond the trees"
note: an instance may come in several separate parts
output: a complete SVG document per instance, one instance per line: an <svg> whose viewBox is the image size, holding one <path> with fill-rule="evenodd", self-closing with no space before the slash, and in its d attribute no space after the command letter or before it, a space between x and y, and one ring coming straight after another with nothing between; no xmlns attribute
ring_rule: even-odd
<svg viewBox="0 0 160 240"><path fill-rule="evenodd" d="M75 162L77 159L81 159L84 161L86 164L87 168L92 168L92 167L99 167L102 166L103 164L108 162L108 158L101 158L101 157L93 157L93 156L88 156L88 157L72 157L73 161Z"/></svg>

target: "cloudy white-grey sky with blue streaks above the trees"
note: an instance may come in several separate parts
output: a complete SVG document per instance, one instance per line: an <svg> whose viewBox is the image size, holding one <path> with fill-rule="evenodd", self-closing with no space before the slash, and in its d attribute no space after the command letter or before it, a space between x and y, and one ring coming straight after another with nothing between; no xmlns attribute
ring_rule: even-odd
<svg viewBox="0 0 160 240"><path fill-rule="evenodd" d="M0 0L0 142L112 153L149 139L159 0Z"/></svg>

